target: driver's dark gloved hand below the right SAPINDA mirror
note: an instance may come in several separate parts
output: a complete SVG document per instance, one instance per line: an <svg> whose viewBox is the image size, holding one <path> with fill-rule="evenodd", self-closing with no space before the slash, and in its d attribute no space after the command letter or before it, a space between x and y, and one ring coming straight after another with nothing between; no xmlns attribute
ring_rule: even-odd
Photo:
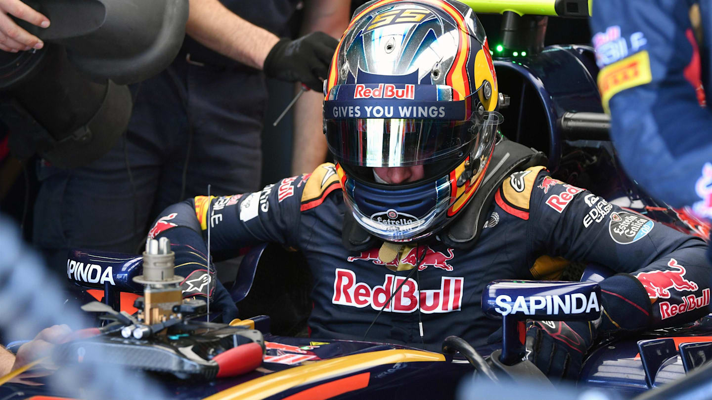
<svg viewBox="0 0 712 400"><path fill-rule="evenodd" d="M577 379L595 329L587 321L529 322L527 358L550 379Z"/></svg>

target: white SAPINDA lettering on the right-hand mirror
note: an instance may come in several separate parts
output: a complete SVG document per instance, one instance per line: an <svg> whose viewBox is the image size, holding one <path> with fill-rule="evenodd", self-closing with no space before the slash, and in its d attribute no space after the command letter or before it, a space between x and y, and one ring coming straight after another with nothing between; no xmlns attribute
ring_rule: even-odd
<svg viewBox="0 0 712 400"><path fill-rule="evenodd" d="M559 314L583 314L595 310L600 312L598 297L595 292L591 292L588 298L583 293L572 293L568 295L545 295L545 296L517 296L514 301L508 295L498 295L495 299L494 310L501 315L524 314L524 315L559 315ZM538 312L542 310L542 312Z"/></svg>

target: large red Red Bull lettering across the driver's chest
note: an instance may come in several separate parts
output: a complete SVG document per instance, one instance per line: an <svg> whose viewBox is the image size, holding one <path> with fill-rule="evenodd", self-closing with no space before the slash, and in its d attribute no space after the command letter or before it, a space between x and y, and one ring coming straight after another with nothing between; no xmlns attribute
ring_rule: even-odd
<svg viewBox="0 0 712 400"><path fill-rule="evenodd" d="M419 308L425 314L434 312L453 312L461 310L464 278L443 276L440 288L419 290L416 280L403 276L387 274L383 285L371 287L367 283L357 282L352 270L336 268L334 280L333 304L349 307L371 307L373 310L386 312L416 312ZM401 289L391 297L393 290Z"/></svg>

